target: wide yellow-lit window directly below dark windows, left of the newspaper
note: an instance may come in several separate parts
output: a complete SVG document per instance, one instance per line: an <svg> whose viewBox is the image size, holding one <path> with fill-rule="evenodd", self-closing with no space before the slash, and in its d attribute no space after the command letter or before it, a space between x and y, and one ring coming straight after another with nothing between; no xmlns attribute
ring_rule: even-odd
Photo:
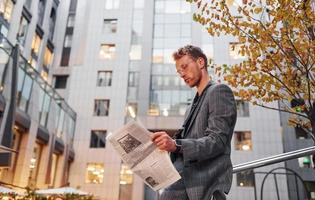
<svg viewBox="0 0 315 200"><path fill-rule="evenodd" d="M103 183L104 165L102 163L88 163L86 167L85 183Z"/></svg>

